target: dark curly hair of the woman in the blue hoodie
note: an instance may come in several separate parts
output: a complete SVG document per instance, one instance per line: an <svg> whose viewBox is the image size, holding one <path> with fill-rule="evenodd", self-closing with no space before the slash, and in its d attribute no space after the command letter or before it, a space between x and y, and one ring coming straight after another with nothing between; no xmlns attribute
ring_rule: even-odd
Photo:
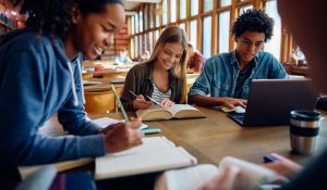
<svg viewBox="0 0 327 190"><path fill-rule="evenodd" d="M27 15L26 26L64 38L72 25L72 5L76 4L81 14L101 13L111 3L122 4L121 0L11 0Z"/></svg>

